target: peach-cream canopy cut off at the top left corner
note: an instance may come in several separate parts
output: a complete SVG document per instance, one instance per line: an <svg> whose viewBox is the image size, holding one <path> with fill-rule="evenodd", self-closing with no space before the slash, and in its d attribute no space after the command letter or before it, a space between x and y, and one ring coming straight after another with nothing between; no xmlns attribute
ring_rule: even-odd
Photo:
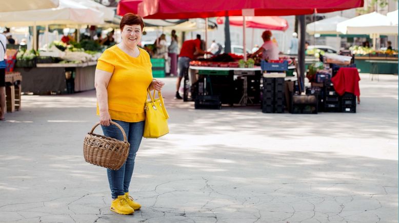
<svg viewBox="0 0 399 223"><path fill-rule="evenodd" d="M58 0L12 0L2 1L0 12L14 12L58 7Z"/></svg>

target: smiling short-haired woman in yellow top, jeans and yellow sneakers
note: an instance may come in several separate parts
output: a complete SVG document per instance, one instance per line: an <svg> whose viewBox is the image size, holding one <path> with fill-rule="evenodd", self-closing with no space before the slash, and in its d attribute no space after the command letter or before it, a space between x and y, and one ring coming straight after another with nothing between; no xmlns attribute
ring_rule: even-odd
<svg viewBox="0 0 399 223"><path fill-rule="evenodd" d="M121 169L107 169L113 198L111 210L119 214L133 214L134 210L141 208L129 196L129 185L136 152L143 138L147 88L161 91L165 83L152 79L150 56L137 47L143 34L143 19L127 13L119 27L122 42L108 48L98 59L95 89L97 115L104 135L123 140L121 130L110 125L112 120L123 127L130 143L128 159Z"/></svg>

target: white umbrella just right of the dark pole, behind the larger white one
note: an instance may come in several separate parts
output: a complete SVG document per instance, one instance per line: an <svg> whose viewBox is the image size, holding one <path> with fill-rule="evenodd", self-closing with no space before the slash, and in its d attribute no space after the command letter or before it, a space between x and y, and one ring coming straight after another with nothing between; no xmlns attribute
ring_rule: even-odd
<svg viewBox="0 0 399 223"><path fill-rule="evenodd" d="M336 31L336 25L338 23L341 23L348 19L349 18L345 18L345 17L337 15L337 16L334 16L331 18L318 20L318 21L315 21L313 23L306 25L306 32L309 35L314 35L316 33L318 33L318 34L339 34L339 32Z"/></svg>

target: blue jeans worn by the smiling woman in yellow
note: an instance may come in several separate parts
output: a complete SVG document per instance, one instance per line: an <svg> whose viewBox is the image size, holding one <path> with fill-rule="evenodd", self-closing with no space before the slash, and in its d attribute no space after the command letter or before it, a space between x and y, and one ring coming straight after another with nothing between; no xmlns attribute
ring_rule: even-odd
<svg viewBox="0 0 399 223"><path fill-rule="evenodd" d="M125 130L126 137L130 143L130 150L128 159L123 164L121 169L110 170L107 169L108 183L111 189L112 198L115 199L120 195L129 192L129 185L133 175L134 159L136 152L143 139L144 121L142 122L124 122L112 120ZM123 141L122 131L116 125L101 126L105 136L112 137L117 140Z"/></svg>

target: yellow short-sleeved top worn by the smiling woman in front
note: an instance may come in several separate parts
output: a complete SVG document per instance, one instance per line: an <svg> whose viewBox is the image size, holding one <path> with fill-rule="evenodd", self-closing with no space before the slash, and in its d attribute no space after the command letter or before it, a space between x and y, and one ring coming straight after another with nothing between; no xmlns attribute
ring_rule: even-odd
<svg viewBox="0 0 399 223"><path fill-rule="evenodd" d="M111 119L125 122L145 120L144 104L152 81L152 65L147 51L138 49L138 57L131 57L115 45L98 58L96 69L112 73L107 87Z"/></svg>

